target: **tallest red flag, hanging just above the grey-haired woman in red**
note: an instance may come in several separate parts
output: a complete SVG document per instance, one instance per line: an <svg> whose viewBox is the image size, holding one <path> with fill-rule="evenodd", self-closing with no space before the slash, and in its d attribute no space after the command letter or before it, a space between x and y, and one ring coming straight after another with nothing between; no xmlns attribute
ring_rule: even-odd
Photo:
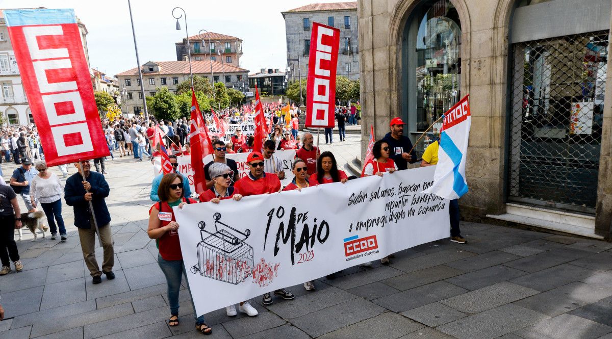
<svg viewBox="0 0 612 339"><path fill-rule="evenodd" d="M192 167L193 167L193 185L195 192L200 195L206 192L206 176L204 176L203 158L212 153L211 140L208 137L208 130L198 100L195 99L195 92L192 88L192 114L190 123L190 133L188 135L189 142L192 147Z"/></svg>

